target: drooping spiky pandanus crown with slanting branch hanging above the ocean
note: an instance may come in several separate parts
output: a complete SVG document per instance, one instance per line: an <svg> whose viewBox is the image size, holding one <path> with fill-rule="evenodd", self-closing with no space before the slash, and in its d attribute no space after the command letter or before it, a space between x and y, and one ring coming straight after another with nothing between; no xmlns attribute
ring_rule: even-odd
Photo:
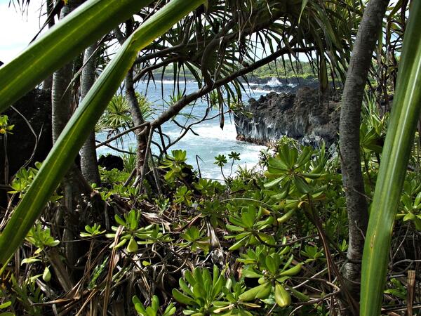
<svg viewBox="0 0 421 316"><path fill-rule="evenodd" d="M336 67L339 74L346 65L347 41L343 39L349 39L352 34L349 18L351 21L355 19L351 11L346 1L336 4L318 1L208 1L208 6L180 20L136 58L133 71L128 72L124 81L135 125L142 124L142 117L136 112L138 106L133 98L133 85L142 79L162 79L168 75L166 70L169 68L175 82L174 90L182 98L151 122L152 129L174 120L175 114L186 105L210 91L215 91L218 96L220 124L223 126L225 97L222 95L227 93L228 105L241 98L243 84L239 79L246 79L246 74L281 56L290 60L297 58L298 53L314 51L317 56L314 67L323 78L323 89L327 89L326 64L340 65ZM123 43L138 23L135 18L126 22L124 27L114 29L116 38ZM161 78L154 77L155 70L161 72ZM198 84L197 91L189 95L185 95L183 85L178 84L185 79L186 70L193 74ZM138 149L146 147L147 133L145 130L139 135L138 131ZM138 157L138 169L142 164L142 157Z"/></svg>

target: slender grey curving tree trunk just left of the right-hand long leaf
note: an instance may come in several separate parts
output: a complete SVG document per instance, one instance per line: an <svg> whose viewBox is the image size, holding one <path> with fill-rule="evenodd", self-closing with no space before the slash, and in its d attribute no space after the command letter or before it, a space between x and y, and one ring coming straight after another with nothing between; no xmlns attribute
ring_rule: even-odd
<svg viewBox="0 0 421 316"><path fill-rule="evenodd" d="M371 0L364 11L352 49L340 112L342 181L347 199L349 221L348 262L345 264L344 277L350 293L356 299L359 299L361 258L368 223L368 206L361 172L359 147L361 104L373 51L378 34L382 29L382 19L385 16L388 3L388 0Z"/></svg>

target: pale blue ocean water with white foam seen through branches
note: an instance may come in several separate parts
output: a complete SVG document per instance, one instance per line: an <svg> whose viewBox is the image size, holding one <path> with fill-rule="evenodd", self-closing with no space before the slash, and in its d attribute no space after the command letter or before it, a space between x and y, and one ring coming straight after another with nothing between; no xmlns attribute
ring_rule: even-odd
<svg viewBox="0 0 421 316"><path fill-rule="evenodd" d="M136 87L136 90L139 93L144 94L147 97L147 100L149 100L149 103L152 103L154 112L152 117L156 117L159 113L168 108L168 103L169 100L171 100L171 96L173 96L174 88L177 90L177 87L174 87L173 81L155 81L155 83L149 82L149 85L145 82L141 82ZM185 90L188 94L197 90L197 84L196 82L187 82L186 84L180 84L179 88L180 91ZM243 101L246 101L251 97L258 98L260 95L266 93L268 93L268 91L262 91L258 85L250 85L246 89L246 92L243 93ZM189 124L201 119L206 113L207 108L208 103L205 99L196 100L196 103L185 107L185 109L182 110L182 114L179 114L175 119L182 126L189 126ZM210 110L208 117L215 117L218 113L218 109ZM169 138L164 138L166 144L168 144L169 140L171 140L171 142L176 140L183 131L173 121L168 121L163 124L162 130ZM225 114L223 129L220 128L220 118L216 117L215 119L203 121L200 124L194 125L192 130L194 133L189 131L178 143L173 145L169 151L186 150L187 163L191 164L195 170L198 169L199 164L201 176L203 178L218 180L223 178L220 167L214 164L215 156L218 156L218 154L225 154L227 159L230 152L238 152L240 154L241 160L234 163L232 171L231 162L223 169L225 176L229 176L230 173L234 175L239 166L243 168L247 167L247 169L256 166L259 161L260 150L265 148L264 146L236 140L236 130L232 114ZM101 141L105 140L106 134L99 133L97 138ZM154 136L154 140L161 145L161 140L157 135ZM129 147L135 148L134 133L123 137L122 144L121 142L113 142L111 145L125 150L128 150ZM155 145L152 145L152 152L155 154L159 153L159 150ZM107 153L118 154L105 146L98 148L98 155Z"/></svg>

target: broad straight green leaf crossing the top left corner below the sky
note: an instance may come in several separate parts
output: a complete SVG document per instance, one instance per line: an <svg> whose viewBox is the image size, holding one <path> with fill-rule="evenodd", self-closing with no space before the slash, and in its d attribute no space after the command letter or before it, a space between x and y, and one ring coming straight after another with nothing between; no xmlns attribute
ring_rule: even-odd
<svg viewBox="0 0 421 316"><path fill-rule="evenodd" d="M0 67L0 112L153 0L89 0Z"/></svg>

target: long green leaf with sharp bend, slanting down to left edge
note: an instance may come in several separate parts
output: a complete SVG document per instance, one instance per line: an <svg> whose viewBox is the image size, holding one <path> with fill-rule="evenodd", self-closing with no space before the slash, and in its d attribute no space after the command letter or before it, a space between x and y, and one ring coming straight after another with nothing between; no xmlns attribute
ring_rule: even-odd
<svg viewBox="0 0 421 316"><path fill-rule="evenodd" d="M138 51L165 33L175 22L203 2L204 0L173 0L152 15L126 40L60 134L36 174L31 187L0 235L0 263L5 263L22 243L48 202L48 198L58 187L60 180L74 161L88 133L93 129L109 100L130 70Z"/></svg>

